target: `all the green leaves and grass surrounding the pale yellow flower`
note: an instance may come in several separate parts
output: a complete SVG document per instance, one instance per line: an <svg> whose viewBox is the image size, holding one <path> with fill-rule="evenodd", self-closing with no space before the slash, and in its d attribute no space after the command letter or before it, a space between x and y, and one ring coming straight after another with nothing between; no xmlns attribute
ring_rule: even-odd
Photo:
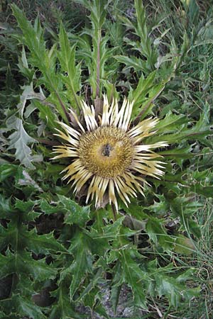
<svg viewBox="0 0 213 319"><path fill-rule="evenodd" d="M18 28L3 25L0 38L0 317L111 318L109 291L120 318L124 290L132 318L195 318L193 307L210 318L212 12L196 1L72 2L84 18L68 32L66 1L54 26L13 1ZM82 99L99 108L103 93L134 100L134 123L158 116L144 142L169 144L164 177L117 216L76 200L63 162L49 160L56 121L73 122Z"/></svg>

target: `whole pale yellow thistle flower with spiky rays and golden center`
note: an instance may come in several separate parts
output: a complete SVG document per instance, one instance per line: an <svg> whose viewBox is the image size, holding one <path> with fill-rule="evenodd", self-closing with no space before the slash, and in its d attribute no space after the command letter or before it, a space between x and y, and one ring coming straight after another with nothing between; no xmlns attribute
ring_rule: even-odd
<svg viewBox="0 0 213 319"><path fill-rule="evenodd" d="M95 197L96 207L102 204L105 194L109 203L114 203L118 210L116 196L127 206L129 197L136 192L143 194L144 184L148 184L146 176L159 178L163 175L163 162L156 160L160 155L153 152L157 147L164 147L166 142L143 144L143 139L153 135L157 118L147 118L131 127L133 102L124 99L119 109L116 100L109 105L104 96L102 116L96 118L93 106L82 101L85 125L80 123L75 113L70 110L77 121L74 129L60 123L62 132L58 130L65 145L54 147L58 153L53 159L70 158L70 164L62 171L66 172L62 179L72 182L77 193L87 184L87 202Z"/></svg>

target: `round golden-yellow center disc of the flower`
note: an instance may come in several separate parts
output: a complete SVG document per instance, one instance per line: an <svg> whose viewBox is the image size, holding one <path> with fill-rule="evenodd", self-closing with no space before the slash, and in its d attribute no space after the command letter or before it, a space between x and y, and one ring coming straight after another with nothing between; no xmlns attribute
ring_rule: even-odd
<svg viewBox="0 0 213 319"><path fill-rule="evenodd" d="M89 172L113 178L131 165L133 145L129 136L119 128L97 128L81 136L79 157Z"/></svg>

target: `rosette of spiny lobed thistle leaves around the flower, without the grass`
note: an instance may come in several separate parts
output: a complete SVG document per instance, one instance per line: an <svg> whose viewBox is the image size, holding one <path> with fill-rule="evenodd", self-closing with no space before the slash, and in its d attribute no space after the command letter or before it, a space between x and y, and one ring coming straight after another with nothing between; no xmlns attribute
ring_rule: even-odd
<svg viewBox="0 0 213 319"><path fill-rule="evenodd" d="M32 25L12 6L20 28L13 33L18 67L26 82L17 106L11 103L5 111L2 128L0 274L7 289L1 291L1 318L88 318L88 308L80 306L110 318L103 295L110 291L116 314L122 289L129 293L126 306L148 315L153 299L175 311L200 290L195 269L186 269L182 256L196 250L200 237L193 219L201 206L197 194L212 196L212 173L203 169L211 146L208 107L200 118L168 111L156 123L158 134L146 143L170 145L158 150L165 175L149 176L144 196L129 207L118 200L116 220L109 204L97 211L94 202L85 204L84 191L75 197L61 181L67 159L50 162L58 121L73 123L69 109L80 115L82 99L99 113L104 93L109 101L126 95L134 101L135 124L157 116L155 103L175 76L181 54L157 68L158 47L148 37L141 1L135 1L131 18L121 18L123 26L109 3L79 2L87 13L85 26L70 34L61 25L52 46L39 19ZM130 50L131 40L143 54ZM124 55L141 68L127 72Z"/></svg>

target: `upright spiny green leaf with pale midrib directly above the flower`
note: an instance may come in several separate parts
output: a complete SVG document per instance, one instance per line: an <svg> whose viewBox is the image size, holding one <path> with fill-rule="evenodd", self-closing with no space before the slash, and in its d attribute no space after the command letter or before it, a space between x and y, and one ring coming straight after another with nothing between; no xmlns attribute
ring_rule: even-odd
<svg viewBox="0 0 213 319"><path fill-rule="evenodd" d="M112 60L115 48L108 47L109 35L108 33L105 33L105 35L102 33L109 2L106 0L92 0L81 1L81 3L90 11L89 20L92 28L84 29L84 34L77 37L80 46L78 54L87 65L92 97L95 99L102 95L102 79L107 79L109 74L114 75L114 72L116 72L112 63L107 69L107 62L110 62L110 59Z"/></svg>

